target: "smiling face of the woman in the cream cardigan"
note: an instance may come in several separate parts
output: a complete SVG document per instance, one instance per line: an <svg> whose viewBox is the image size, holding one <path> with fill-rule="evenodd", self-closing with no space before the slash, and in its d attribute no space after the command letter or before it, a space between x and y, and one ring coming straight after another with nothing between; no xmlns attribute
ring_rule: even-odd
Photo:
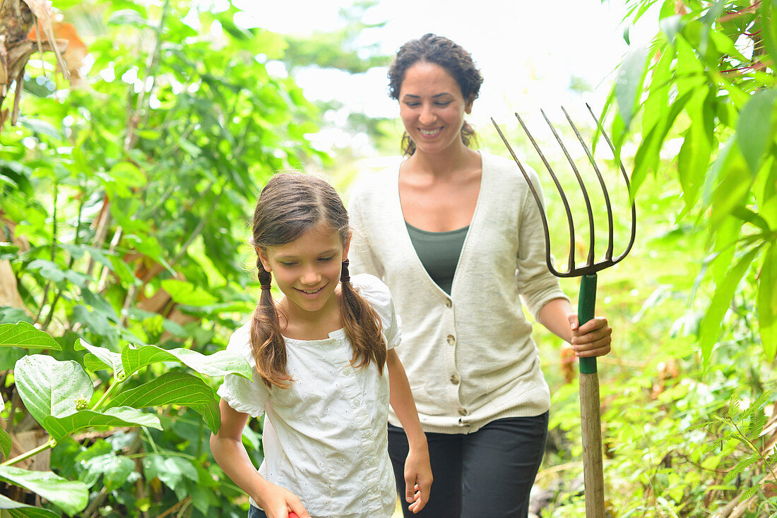
<svg viewBox="0 0 777 518"><path fill-rule="evenodd" d="M462 143L464 114L472 100L439 64L419 61L405 71L399 88L399 116L416 149L425 153L448 151Z"/></svg>

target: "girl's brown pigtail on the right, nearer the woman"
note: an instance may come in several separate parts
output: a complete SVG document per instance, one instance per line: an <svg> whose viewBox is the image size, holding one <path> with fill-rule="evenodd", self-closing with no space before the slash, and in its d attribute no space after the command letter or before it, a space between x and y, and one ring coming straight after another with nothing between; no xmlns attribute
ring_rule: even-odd
<svg viewBox="0 0 777 518"><path fill-rule="evenodd" d="M381 318L375 308L351 285L348 259L343 261L340 287L342 290L340 315L343 318L343 328L354 347L354 356L350 363L356 368L361 368L370 362L375 362L378 372L383 374L386 342L381 332Z"/></svg>

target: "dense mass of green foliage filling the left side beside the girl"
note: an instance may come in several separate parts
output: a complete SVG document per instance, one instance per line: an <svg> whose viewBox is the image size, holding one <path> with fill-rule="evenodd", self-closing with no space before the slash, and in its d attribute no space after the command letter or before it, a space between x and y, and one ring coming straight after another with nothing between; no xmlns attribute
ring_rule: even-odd
<svg viewBox="0 0 777 518"><path fill-rule="evenodd" d="M50 436L0 478L46 509L2 499L0 514L239 516L208 439L214 389L250 369L221 349L253 308L245 236L264 181L328 160L307 139L319 110L265 66L284 37L238 26L229 3L55 7L91 68L71 87L27 67L0 136L2 283L23 301L0 307L0 452L30 427ZM246 429L255 461L259 437ZM47 449L56 473L16 467Z"/></svg>

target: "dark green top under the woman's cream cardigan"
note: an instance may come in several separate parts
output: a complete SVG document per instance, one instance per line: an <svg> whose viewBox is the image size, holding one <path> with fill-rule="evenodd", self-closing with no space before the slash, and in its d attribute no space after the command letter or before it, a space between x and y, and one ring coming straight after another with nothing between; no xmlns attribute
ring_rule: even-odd
<svg viewBox="0 0 777 518"><path fill-rule="evenodd" d="M458 256L462 255L469 225L448 232L429 232L405 222L416 256L437 286L451 294Z"/></svg>

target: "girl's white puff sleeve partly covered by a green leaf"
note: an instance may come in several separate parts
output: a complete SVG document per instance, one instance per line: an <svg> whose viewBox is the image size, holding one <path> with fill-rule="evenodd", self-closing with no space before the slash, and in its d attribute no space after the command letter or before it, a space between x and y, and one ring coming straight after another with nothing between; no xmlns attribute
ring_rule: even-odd
<svg viewBox="0 0 777 518"><path fill-rule="evenodd" d="M270 398L270 390L256 373L256 362L251 354L250 322L232 333L227 350L242 355L248 361L253 371L253 380L236 374L227 374L224 383L218 388L218 395L229 406L252 417L260 417L264 414L264 405Z"/></svg>

